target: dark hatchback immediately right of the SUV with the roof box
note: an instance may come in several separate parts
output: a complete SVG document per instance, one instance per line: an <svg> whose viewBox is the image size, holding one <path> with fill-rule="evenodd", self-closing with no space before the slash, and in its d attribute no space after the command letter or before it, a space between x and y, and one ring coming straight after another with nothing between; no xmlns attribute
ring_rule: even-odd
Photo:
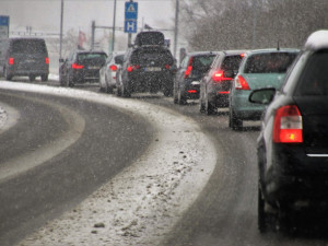
<svg viewBox="0 0 328 246"><path fill-rule="evenodd" d="M189 52L181 60L174 78L173 101L187 104L188 99L199 98L202 77L209 71L218 51Z"/></svg>

